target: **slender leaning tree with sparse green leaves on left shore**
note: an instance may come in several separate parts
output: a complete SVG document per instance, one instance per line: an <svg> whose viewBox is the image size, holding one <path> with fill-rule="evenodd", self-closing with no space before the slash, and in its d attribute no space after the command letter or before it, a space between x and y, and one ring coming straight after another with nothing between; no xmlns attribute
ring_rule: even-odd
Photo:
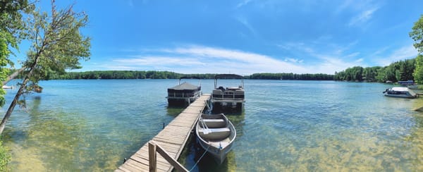
<svg viewBox="0 0 423 172"><path fill-rule="evenodd" d="M51 16L33 11L27 21L27 39L32 46L23 63L25 78L0 123L0 134L8 118L25 92L39 88L37 82L49 73L65 73L67 69L80 68L80 59L90 56L90 38L81 35L80 27L87 25L85 13L75 13L72 6L56 11L51 2Z"/></svg>

